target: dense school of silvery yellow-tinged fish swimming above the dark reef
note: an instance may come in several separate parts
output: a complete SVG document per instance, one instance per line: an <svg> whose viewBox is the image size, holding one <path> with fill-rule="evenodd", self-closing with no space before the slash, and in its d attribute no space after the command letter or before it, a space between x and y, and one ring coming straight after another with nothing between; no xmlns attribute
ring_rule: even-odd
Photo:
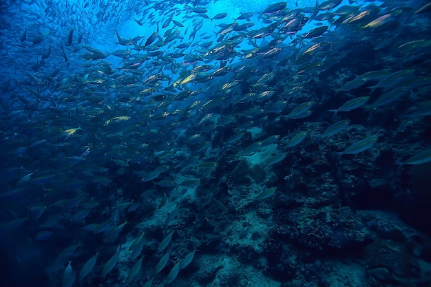
<svg viewBox="0 0 431 287"><path fill-rule="evenodd" d="M56 286L123 286L119 268L171 284L199 256L179 227L189 201L207 206L194 220L244 206L211 195L227 162L343 162L396 138L388 165L431 161L426 138L409 142L429 133L429 3L218 2L0 4L0 237L56 242ZM262 182L249 202L278 192Z"/></svg>

